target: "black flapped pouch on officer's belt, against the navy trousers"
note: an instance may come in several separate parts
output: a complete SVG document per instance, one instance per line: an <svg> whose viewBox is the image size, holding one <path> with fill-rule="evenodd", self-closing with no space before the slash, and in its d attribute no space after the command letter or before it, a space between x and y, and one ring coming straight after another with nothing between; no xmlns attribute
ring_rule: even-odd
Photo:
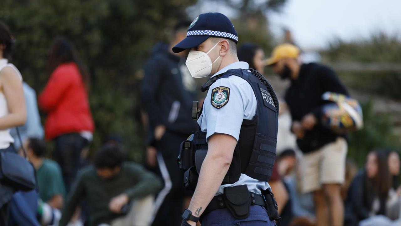
<svg viewBox="0 0 401 226"><path fill-rule="evenodd" d="M249 216L251 198L247 185L225 187L224 201L233 216L237 219L245 219Z"/></svg>

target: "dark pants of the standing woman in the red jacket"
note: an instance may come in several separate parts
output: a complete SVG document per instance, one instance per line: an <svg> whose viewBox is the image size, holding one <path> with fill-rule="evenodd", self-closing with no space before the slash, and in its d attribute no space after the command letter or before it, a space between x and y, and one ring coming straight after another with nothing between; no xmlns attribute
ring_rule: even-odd
<svg viewBox="0 0 401 226"><path fill-rule="evenodd" d="M80 168L81 151L88 140L77 133L63 134L55 138L56 160L61 167L65 189L71 189Z"/></svg>

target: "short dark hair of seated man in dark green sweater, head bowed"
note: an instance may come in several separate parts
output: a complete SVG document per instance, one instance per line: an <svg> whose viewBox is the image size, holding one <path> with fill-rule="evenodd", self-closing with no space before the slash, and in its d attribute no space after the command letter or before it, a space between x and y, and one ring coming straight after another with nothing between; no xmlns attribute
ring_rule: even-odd
<svg viewBox="0 0 401 226"><path fill-rule="evenodd" d="M97 169L113 169L117 166L121 166L124 160L125 154L119 145L105 144L95 154L95 158L93 158L93 164Z"/></svg>

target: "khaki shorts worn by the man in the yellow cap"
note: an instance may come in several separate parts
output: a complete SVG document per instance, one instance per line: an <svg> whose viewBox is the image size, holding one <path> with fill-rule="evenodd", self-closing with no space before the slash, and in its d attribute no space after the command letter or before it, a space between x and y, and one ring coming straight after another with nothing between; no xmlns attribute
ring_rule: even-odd
<svg viewBox="0 0 401 226"><path fill-rule="evenodd" d="M342 184L345 179L347 142L337 138L335 142L302 156L302 191L317 191L324 184Z"/></svg>

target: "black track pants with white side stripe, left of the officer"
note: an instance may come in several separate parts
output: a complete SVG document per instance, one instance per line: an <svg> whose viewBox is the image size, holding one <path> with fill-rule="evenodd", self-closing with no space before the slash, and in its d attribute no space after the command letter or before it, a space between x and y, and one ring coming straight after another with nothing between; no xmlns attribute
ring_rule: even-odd
<svg viewBox="0 0 401 226"><path fill-rule="evenodd" d="M158 153L162 154L161 156L164 162L164 164L160 161L158 162L159 168L160 171L167 170L167 172L164 173L168 173L170 181L164 181L165 187L163 190L168 190L168 194L164 197L164 201L156 214L152 224L153 226L176 226L180 225L180 222L182 221L181 214L184 210L183 203L186 191L183 186L184 173L178 169L176 160L180 144L187 138L188 136L174 134L167 131L162 139L158 141L156 148L158 149ZM170 187L170 189L168 189L168 187ZM162 198L161 196L164 196L163 190L159 193L158 197L156 197L156 204L158 199Z"/></svg>

